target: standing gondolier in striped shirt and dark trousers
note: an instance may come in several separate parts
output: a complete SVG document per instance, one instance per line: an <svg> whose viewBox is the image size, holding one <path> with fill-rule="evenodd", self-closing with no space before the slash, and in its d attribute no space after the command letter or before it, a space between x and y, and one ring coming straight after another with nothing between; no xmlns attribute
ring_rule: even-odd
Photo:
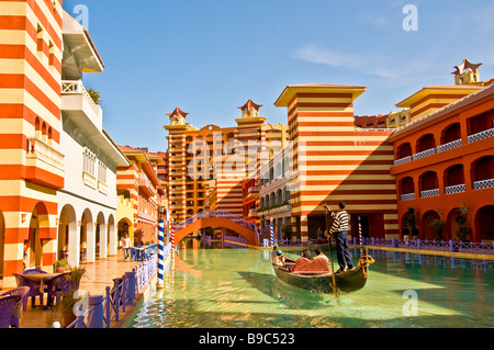
<svg viewBox="0 0 494 350"><path fill-rule="evenodd" d="M326 204L325 204L326 206ZM336 240L336 258L339 269L335 273L344 272L346 269L353 269L350 250L348 249L348 213L345 211L345 203L339 202L339 212L335 213L329 207L329 213L334 217L329 235Z"/></svg>

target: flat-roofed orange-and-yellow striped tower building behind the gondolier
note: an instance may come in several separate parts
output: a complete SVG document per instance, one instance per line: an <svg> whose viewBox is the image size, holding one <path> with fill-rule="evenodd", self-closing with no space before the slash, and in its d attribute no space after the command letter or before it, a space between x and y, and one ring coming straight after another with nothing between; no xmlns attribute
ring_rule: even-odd
<svg viewBox="0 0 494 350"><path fill-rule="evenodd" d="M353 101L364 91L340 84L289 86L274 103L288 108L292 228L302 241L324 229L323 204L336 211L339 202L347 205L351 227L361 217L364 236L397 237L393 147L388 143L392 132L355 127Z"/></svg>

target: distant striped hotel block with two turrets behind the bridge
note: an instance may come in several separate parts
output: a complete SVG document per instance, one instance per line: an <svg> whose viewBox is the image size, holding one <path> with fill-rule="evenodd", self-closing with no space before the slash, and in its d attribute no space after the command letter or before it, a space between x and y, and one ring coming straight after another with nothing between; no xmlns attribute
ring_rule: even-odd
<svg viewBox="0 0 494 350"><path fill-rule="evenodd" d="M175 222L206 207L243 216L243 180L285 142L287 127L265 124L259 108L247 101L239 108L242 117L235 120L235 127L198 129L186 123L188 113L180 109L168 114L169 205ZM207 193L214 201L207 200Z"/></svg>

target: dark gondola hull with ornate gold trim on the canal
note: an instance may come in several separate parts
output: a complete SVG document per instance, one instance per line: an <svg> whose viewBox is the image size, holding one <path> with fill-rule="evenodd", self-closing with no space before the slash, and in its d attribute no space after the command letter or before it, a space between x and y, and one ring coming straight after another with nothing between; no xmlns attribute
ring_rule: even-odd
<svg viewBox="0 0 494 350"><path fill-rule="evenodd" d="M372 257L367 255L367 249L361 250L360 260L356 268L335 273L337 294L356 292L367 283L369 264ZM334 294L333 273L290 272L288 269L272 263L274 274L279 280L304 290Z"/></svg>

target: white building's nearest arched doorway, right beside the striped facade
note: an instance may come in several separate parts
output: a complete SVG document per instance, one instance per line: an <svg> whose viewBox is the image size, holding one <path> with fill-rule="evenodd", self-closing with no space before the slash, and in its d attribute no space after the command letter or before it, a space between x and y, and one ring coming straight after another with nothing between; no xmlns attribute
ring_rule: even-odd
<svg viewBox="0 0 494 350"><path fill-rule="evenodd" d="M77 266L79 250L77 249L77 217L70 204L64 205L58 219L57 257L67 259L70 266Z"/></svg>

